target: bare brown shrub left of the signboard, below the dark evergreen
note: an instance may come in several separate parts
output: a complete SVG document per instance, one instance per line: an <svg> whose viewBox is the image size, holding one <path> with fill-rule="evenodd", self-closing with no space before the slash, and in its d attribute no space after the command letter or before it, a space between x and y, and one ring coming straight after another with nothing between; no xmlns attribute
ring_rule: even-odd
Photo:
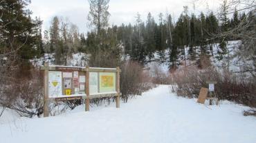
<svg viewBox="0 0 256 143"><path fill-rule="evenodd" d="M12 77L2 91L0 105L17 111L20 115L32 117L43 113L42 77L38 69L23 71L29 76L20 74L19 78ZM29 73L29 74L28 74Z"/></svg>

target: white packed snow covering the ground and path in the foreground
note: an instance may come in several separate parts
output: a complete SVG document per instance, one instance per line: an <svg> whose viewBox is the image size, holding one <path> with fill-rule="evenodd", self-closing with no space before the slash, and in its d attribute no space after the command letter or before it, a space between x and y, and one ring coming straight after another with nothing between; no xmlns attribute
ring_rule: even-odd
<svg viewBox="0 0 256 143"><path fill-rule="evenodd" d="M113 103L84 112L81 106L64 115L0 124L0 142L256 142L256 118L242 115L248 107L195 101L161 85L120 109Z"/></svg>

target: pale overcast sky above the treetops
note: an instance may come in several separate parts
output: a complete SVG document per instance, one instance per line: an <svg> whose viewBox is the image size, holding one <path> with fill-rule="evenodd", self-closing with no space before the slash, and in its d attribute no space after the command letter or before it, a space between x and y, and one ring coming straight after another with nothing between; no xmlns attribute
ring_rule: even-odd
<svg viewBox="0 0 256 143"><path fill-rule="evenodd" d="M188 5L190 12L198 14L206 11L206 2L210 9L216 11L221 0L197 0L195 10L192 1L194 0L110 0L109 24L134 23L137 12L141 14L143 21L146 20L148 12L152 13L156 21L160 12L169 12L176 20L183 11L183 5ZM86 26L88 0L32 0L28 8L32 10L33 17L40 17L44 21L43 30L48 30L54 16L67 17L78 26L80 32L89 30Z"/></svg>

